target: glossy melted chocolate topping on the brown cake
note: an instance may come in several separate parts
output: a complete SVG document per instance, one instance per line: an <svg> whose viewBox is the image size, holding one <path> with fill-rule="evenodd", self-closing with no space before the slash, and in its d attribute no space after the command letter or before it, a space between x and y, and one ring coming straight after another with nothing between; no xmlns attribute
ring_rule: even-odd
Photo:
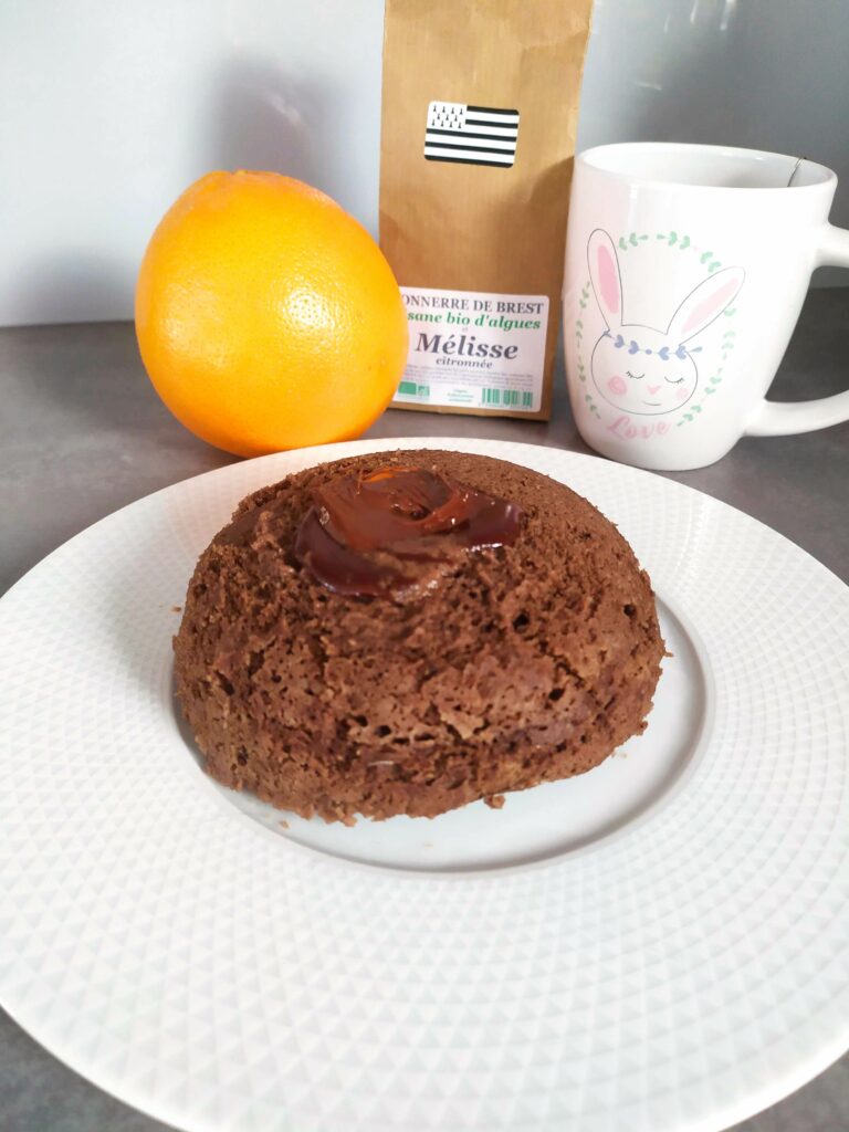
<svg viewBox="0 0 849 1132"><path fill-rule="evenodd" d="M383 468L317 488L294 555L335 593L414 597L470 551L515 542L523 514L432 470Z"/></svg>

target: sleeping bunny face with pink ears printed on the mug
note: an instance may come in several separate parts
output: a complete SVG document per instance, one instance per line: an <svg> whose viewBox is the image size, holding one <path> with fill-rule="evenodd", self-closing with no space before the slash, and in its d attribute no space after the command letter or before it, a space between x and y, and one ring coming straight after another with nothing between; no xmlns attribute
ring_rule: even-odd
<svg viewBox="0 0 849 1132"><path fill-rule="evenodd" d="M619 258L601 229L588 245L590 280L607 329L592 352L595 388L608 404L627 413L657 415L685 405L698 384L700 346L688 346L732 302L743 286L741 267L703 280L679 305L666 331L626 323Z"/></svg>

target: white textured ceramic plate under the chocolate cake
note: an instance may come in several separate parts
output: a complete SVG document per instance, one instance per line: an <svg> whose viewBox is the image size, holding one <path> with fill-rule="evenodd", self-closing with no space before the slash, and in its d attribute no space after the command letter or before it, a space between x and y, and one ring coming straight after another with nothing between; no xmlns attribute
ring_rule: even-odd
<svg viewBox="0 0 849 1132"><path fill-rule="evenodd" d="M198 770L173 607L248 491L397 446L588 496L675 655L648 731L583 778L283 829ZM767 528L549 448L360 441L143 499L0 603L2 1003L192 1132L726 1127L849 1045L847 624L847 589Z"/></svg>

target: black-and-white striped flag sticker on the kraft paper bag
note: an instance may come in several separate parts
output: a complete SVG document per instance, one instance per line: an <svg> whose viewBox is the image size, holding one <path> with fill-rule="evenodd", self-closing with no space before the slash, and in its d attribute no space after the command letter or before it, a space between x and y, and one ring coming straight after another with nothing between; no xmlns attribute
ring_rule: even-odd
<svg viewBox="0 0 849 1132"><path fill-rule="evenodd" d="M518 111L431 102L424 134L428 161L508 168L516 158Z"/></svg>

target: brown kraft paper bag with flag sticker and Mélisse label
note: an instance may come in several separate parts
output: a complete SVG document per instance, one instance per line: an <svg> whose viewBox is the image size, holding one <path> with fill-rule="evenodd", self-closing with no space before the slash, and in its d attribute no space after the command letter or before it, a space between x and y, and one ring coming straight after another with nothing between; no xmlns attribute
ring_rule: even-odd
<svg viewBox="0 0 849 1132"><path fill-rule="evenodd" d="M387 0L380 245L393 405L547 420L592 0Z"/></svg>

